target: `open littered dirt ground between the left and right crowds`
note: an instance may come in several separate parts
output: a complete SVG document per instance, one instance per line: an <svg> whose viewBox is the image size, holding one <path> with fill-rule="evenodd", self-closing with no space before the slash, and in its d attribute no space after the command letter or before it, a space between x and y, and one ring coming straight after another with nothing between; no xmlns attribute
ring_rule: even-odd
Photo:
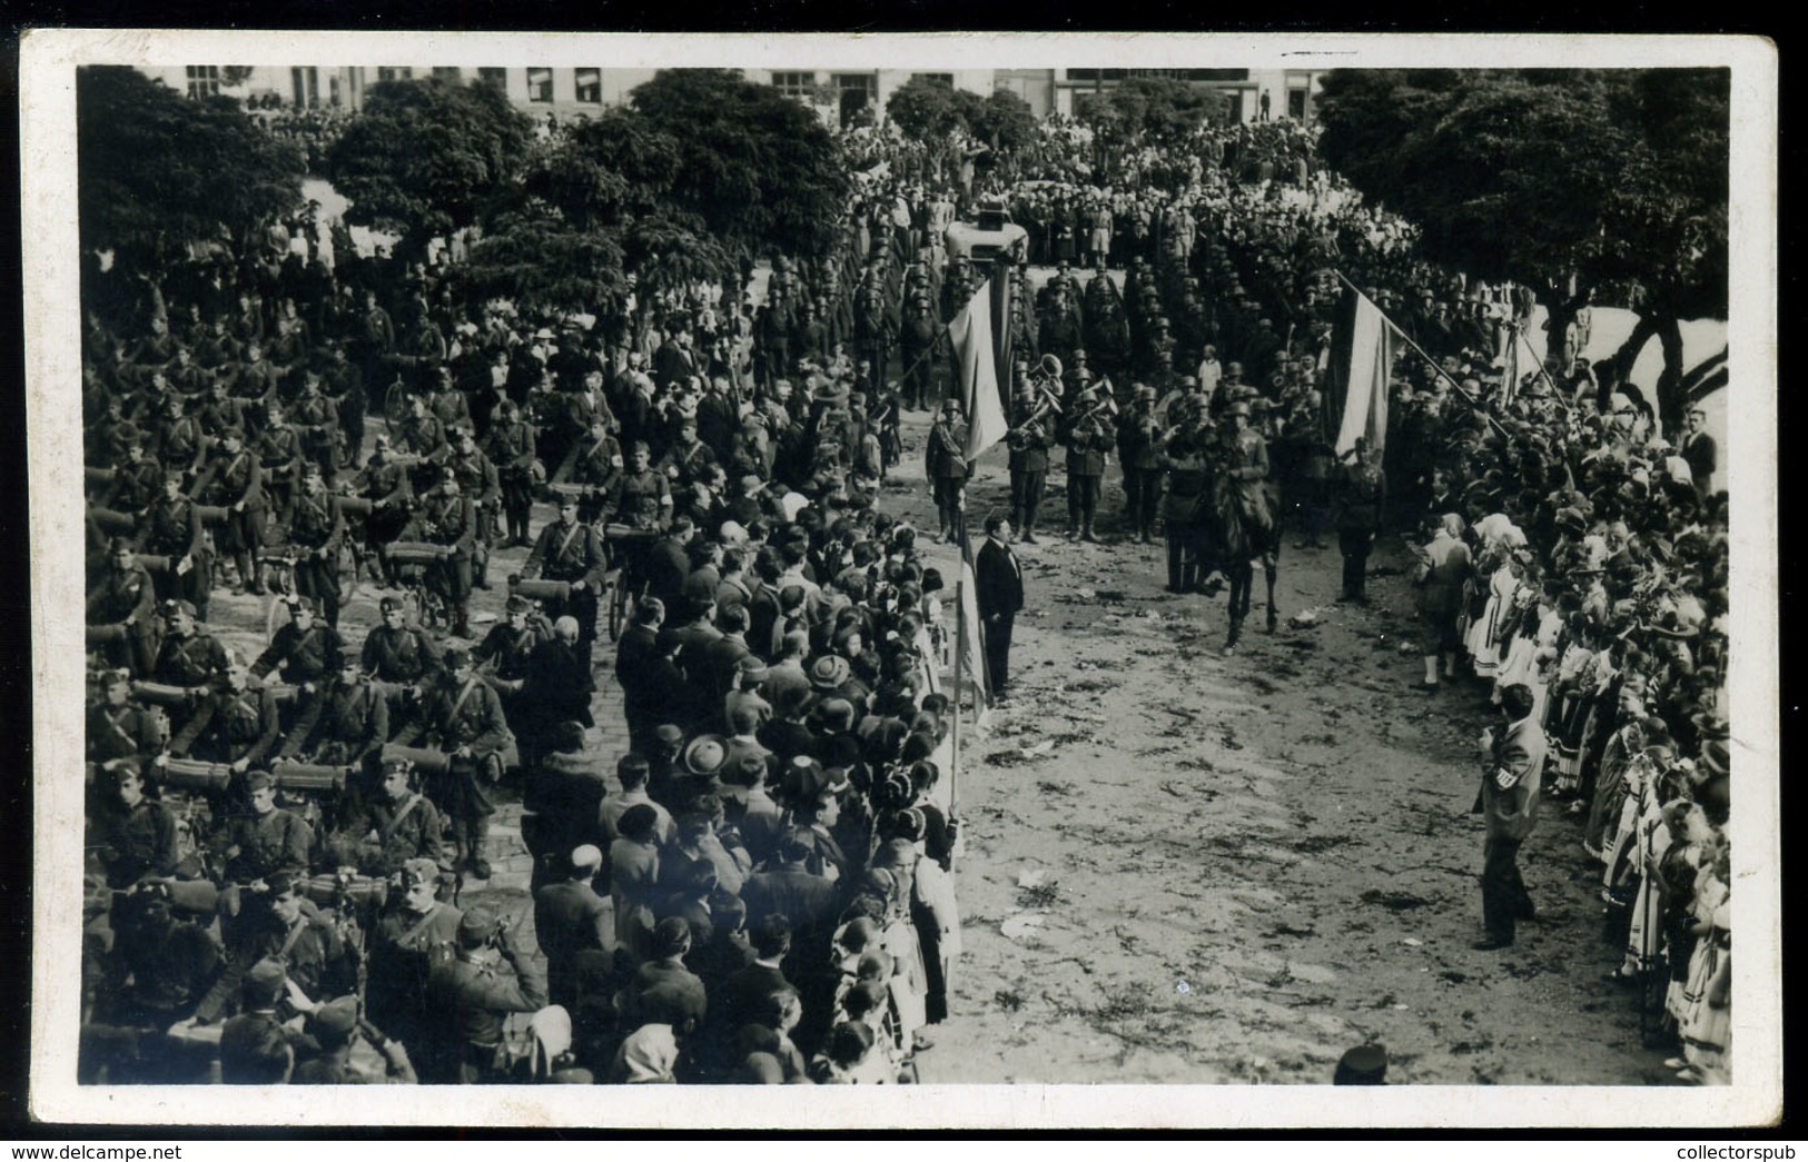
<svg viewBox="0 0 1808 1162"><path fill-rule="evenodd" d="M926 419L911 416L909 463ZM1009 502L984 457L969 520ZM1061 473L1045 528L1065 526ZM886 506L935 528L918 484ZM1483 687L1423 694L1403 548L1334 605L1334 548L1282 560L1282 627L1222 658L1224 598L1163 593L1164 548L1020 546L1012 698L965 746L965 958L926 1082L1304 1082L1389 1048L1392 1082L1663 1084L1604 979L1600 867L1562 804L1521 858L1542 920L1477 952ZM958 576L953 549L944 575ZM1314 629L1287 618L1318 609Z"/></svg>

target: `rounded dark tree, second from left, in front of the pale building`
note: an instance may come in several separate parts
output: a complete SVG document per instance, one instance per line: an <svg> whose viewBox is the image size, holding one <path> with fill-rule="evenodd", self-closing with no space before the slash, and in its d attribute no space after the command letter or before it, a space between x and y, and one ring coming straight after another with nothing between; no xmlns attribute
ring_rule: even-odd
<svg viewBox="0 0 1808 1162"><path fill-rule="evenodd" d="M532 143L530 119L490 85L383 81L327 150L327 177L351 199L349 222L418 255L506 204Z"/></svg>

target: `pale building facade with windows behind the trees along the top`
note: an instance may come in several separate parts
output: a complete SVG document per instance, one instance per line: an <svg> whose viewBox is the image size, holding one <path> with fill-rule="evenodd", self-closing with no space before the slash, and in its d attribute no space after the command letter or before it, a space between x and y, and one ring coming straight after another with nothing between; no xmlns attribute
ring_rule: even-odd
<svg viewBox="0 0 1808 1162"><path fill-rule="evenodd" d="M497 65L183 65L145 69L177 92L226 92L248 105L331 107L356 110L369 85L391 80L441 78L495 85L528 114L557 119L600 112L627 101L654 69ZM1166 76L1229 99L1231 117L1313 119L1323 69L747 69L750 81L772 85L805 101L830 127L848 125L866 110L884 121L886 101L915 78L933 78L980 96L1005 89L1023 98L1038 117L1070 116L1090 92L1110 92L1132 76ZM1266 105L1264 105L1266 101Z"/></svg>

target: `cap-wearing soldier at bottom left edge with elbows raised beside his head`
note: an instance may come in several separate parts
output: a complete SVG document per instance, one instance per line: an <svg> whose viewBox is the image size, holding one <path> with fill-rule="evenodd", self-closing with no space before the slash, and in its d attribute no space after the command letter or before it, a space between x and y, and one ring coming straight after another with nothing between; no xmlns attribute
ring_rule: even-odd
<svg viewBox="0 0 1808 1162"><path fill-rule="evenodd" d="M546 974L515 949L508 925L488 909L472 909L457 925L457 956L427 978L427 1012L438 1017L436 1064L425 1081L483 1084L506 1081L499 1068L503 1021L512 1012L546 1007Z"/></svg>

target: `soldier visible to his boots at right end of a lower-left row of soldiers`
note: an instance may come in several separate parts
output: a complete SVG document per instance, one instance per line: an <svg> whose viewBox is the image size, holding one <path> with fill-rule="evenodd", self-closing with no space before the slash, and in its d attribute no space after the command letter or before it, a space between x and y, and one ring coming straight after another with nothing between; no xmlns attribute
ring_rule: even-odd
<svg viewBox="0 0 1808 1162"><path fill-rule="evenodd" d="M447 754L445 772L428 779L427 793L452 820L457 866L488 880L485 842L495 813L488 786L503 777L508 719L495 690L474 672L470 651L454 645L445 665L445 676L423 698L421 721L405 726L396 743L425 743Z"/></svg>

